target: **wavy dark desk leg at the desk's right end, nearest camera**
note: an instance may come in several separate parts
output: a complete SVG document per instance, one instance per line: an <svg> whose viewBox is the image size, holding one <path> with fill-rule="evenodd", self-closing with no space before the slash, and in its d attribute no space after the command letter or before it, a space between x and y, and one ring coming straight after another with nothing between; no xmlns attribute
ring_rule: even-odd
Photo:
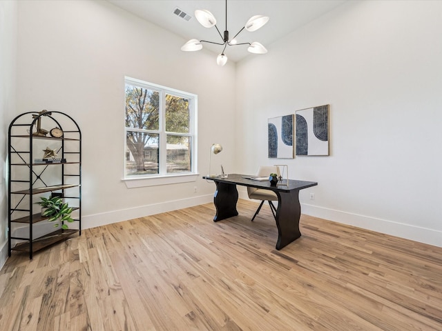
<svg viewBox="0 0 442 331"><path fill-rule="evenodd" d="M299 190L276 192L276 194L278 195L278 210L276 210L278 242L276 243L276 249L280 250L301 237L299 230L301 205L299 203Z"/></svg>

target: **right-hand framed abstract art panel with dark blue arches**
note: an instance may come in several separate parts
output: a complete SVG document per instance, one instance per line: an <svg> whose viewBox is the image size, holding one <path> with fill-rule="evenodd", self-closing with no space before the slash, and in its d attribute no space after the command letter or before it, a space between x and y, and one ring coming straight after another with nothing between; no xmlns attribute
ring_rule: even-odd
<svg viewBox="0 0 442 331"><path fill-rule="evenodd" d="M329 155L329 105L295 113L296 155Z"/></svg>

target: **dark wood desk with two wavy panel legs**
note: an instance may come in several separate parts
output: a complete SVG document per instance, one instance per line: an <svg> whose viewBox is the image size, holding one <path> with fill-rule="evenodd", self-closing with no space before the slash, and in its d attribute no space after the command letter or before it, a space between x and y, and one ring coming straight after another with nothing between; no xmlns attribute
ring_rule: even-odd
<svg viewBox="0 0 442 331"><path fill-rule="evenodd" d="M280 250L301 236L299 219L301 206L299 203L299 190L318 185L314 181L294 181L289 179L289 185L271 186L269 181L253 181L244 179L244 174L229 174L227 178L203 177L214 181L216 184L215 203L216 215L213 221L237 216L236 203L238 202L238 190L236 185L251 186L272 190L278 196L278 208L276 210L276 226L278 227L278 241L276 249ZM283 181L286 183L286 181Z"/></svg>

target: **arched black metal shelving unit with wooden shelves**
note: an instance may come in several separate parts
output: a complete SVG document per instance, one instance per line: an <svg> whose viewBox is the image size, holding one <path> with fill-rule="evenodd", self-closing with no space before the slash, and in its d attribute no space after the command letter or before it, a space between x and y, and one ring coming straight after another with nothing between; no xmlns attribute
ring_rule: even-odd
<svg viewBox="0 0 442 331"><path fill-rule="evenodd" d="M45 130L44 128L47 128ZM48 130L60 128L63 136L48 135ZM57 159L46 163L35 161L35 155L51 146ZM42 158L42 157L41 157ZM66 161L65 161L66 160ZM42 217L36 202L40 197L57 194L73 207L74 223L69 229L61 226L34 237L37 223ZM42 228L44 229L44 228ZM8 252L34 252L81 235L81 131L77 122L63 112L25 112L15 117L8 130Z"/></svg>

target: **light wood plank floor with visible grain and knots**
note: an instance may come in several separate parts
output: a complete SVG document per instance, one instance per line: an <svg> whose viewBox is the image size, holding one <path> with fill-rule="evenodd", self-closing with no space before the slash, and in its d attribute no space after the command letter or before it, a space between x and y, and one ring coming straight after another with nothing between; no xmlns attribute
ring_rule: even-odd
<svg viewBox="0 0 442 331"><path fill-rule="evenodd" d="M85 230L0 272L0 330L442 330L442 248L212 203Z"/></svg>

